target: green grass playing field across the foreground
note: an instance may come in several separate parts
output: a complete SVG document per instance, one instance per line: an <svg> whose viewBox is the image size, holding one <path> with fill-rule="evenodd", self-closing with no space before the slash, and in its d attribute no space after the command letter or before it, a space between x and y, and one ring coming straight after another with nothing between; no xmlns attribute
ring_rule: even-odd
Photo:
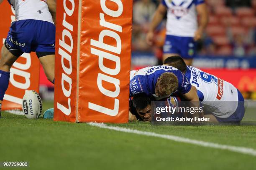
<svg viewBox="0 0 256 170"><path fill-rule="evenodd" d="M53 103L44 102L44 110L49 107ZM108 125L256 149L256 126ZM5 161L28 162L23 169L31 170L256 169L256 156L252 155L2 112L0 162Z"/></svg>

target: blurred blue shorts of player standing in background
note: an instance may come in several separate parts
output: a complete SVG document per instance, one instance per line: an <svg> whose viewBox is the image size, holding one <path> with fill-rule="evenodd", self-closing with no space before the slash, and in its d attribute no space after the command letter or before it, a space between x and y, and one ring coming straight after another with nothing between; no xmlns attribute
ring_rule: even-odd
<svg viewBox="0 0 256 170"><path fill-rule="evenodd" d="M184 59L195 57L197 43L193 37L177 37L166 35L163 51L164 53L179 54Z"/></svg>

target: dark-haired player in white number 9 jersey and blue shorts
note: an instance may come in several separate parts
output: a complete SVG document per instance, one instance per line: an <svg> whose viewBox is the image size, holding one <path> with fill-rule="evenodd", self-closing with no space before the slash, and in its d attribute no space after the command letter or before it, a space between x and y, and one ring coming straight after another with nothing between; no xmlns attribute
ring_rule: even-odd
<svg viewBox="0 0 256 170"><path fill-rule="evenodd" d="M212 113L218 122L240 122L243 119L244 98L231 83L196 67L187 66L179 56L166 58L164 65L176 67L186 75L189 82L197 88L204 111Z"/></svg>

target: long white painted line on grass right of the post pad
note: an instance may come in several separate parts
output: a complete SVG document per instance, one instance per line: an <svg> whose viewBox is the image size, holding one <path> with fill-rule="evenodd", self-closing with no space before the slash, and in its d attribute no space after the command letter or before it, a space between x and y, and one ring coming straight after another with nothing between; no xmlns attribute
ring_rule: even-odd
<svg viewBox="0 0 256 170"><path fill-rule="evenodd" d="M204 142L202 140L193 140L193 139L182 138L182 137L174 136L174 135L164 135L164 134L159 134L159 133L154 133L154 132L146 132L146 131L141 131L141 130L121 128L118 126L107 126L104 123L90 122L87 124L92 125L92 126L97 126L99 128L104 128L104 129L116 130L116 131L126 132L126 133L135 133L138 135L153 136L153 137L173 140L176 142L189 143L189 144L199 145L199 146L208 147L208 148L230 150L230 151L237 152L237 153L244 153L244 154L256 156L256 150L254 150L253 148L245 148L245 147L231 146L231 145L221 145L218 143Z"/></svg>

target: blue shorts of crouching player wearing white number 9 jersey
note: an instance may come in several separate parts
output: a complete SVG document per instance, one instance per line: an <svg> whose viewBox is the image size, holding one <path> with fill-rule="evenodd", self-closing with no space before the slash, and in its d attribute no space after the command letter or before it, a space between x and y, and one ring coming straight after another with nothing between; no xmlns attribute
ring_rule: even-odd
<svg viewBox="0 0 256 170"><path fill-rule="evenodd" d="M238 94L238 106L236 108L236 111L227 118L220 118L216 117L218 122L225 122L225 123L239 123L244 116L245 108L244 108L244 98L241 92L237 89L237 94Z"/></svg>

